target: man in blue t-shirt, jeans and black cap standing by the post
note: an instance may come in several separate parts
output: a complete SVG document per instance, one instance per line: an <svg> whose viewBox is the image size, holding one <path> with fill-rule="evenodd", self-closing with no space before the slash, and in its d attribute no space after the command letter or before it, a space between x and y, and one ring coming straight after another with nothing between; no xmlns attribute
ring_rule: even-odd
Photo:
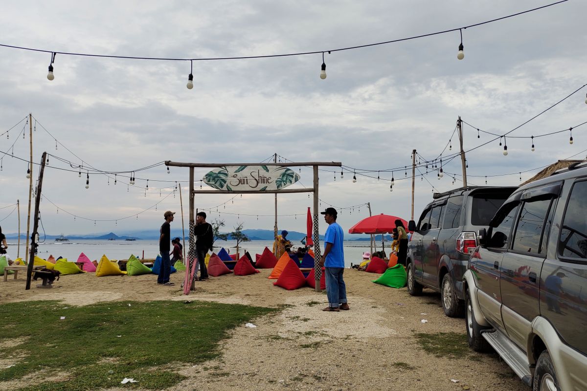
<svg viewBox="0 0 587 391"><path fill-rule="evenodd" d="M325 267L326 295L328 295L328 307L322 311L349 310L346 302L346 285L342 274L345 271L345 253L343 251L344 233L342 227L336 223L338 212L334 208L326 208L324 220L328 223L324 243L324 255L320 261L320 267Z"/></svg>

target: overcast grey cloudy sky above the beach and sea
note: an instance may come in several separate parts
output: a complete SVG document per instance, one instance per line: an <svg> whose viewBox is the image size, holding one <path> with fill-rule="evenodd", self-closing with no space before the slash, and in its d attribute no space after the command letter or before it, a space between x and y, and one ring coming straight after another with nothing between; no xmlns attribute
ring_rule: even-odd
<svg viewBox="0 0 587 391"><path fill-rule="evenodd" d="M68 161L74 171L83 164L104 172L128 172L165 160L256 163L274 153L292 161L340 161L360 172L382 172L369 174L375 178L357 175L356 183L346 170L343 178L340 170L321 172L322 208L326 203L348 207L370 202L373 213L408 220L411 179L403 167L411 165L412 149L421 159L438 157L459 115L474 128L504 134L587 83L587 3L571 0L463 30L464 60L457 60L458 31L330 54L328 50L461 28L546 4L6 2L0 15L4 45L180 59L326 51L328 77L319 78L321 54L195 61L194 89L188 90L188 61L58 54L55 80L49 81L50 53L0 47L0 134L17 124L8 137L0 136L0 151L8 154L0 154L0 208L19 199L26 230L29 135L21 120L32 113L33 161L40 162L43 151L63 159L50 157L43 180L41 213L49 234L158 230L164 210L180 210L175 181L182 186L187 216L188 169L172 167L167 174L164 165L157 165L136 172L134 186L126 185L128 174L117 176L116 185L113 175L91 174L85 189L85 174L78 178L77 172L57 169L72 169ZM586 92L584 87L510 135L545 134L587 121ZM464 127L465 150L492 138L484 133L477 138L474 128ZM467 154L469 184L484 185L488 175L488 185L517 185L518 174L491 175L524 172L573 155L583 159L585 129L587 125L573 130L573 145L569 132L536 138L535 152L525 138L507 139L507 157L499 141L475 149ZM458 146L456 135L451 140L453 149L446 149L445 156ZM393 172L396 185L390 192L390 182L384 179L392 172L384 170L400 167ZM461 185L458 158L443 168L457 174L456 184L449 175L438 181L436 172L418 176L416 218L431 200L432 186L447 191ZM205 172L197 169L196 178ZM522 180L535 172L522 173ZM36 179L38 166L33 174ZM302 168L300 175L302 185L311 186L311 169ZM221 214L212 213L212 219L221 217L228 228L243 222L245 228L272 229L272 195L232 198L197 195L196 206L215 210L220 205ZM141 213L156 203L157 210ZM308 206L311 199L305 193L279 196L279 214L302 214ZM5 233L18 229L16 212L9 215L12 209L0 209ZM65 211L89 220L74 219ZM133 217L123 219L126 216ZM365 206L360 212L344 210L339 223L348 229L365 216ZM175 224L180 223L176 219ZM279 217L279 229L303 231L305 219Z"/></svg>

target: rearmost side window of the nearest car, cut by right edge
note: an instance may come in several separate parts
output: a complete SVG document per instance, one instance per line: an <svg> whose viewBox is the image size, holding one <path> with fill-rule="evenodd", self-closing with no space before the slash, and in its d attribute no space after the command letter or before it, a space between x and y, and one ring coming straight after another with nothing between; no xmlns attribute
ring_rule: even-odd
<svg viewBox="0 0 587 391"><path fill-rule="evenodd" d="M587 181L573 185L562 221L559 254L587 260Z"/></svg>

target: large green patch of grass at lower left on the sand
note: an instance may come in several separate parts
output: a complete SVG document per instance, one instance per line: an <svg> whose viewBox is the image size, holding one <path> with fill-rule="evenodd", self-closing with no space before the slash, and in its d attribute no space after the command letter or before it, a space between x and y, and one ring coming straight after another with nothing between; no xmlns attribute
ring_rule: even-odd
<svg viewBox="0 0 587 391"><path fill-rule="evenodd" d="M2 304L0 324L14 324L14 338L33 338L18 345L23 359L0 369L0 382L46 370L68 373L68 381L39 378L36 385L18 390L106 389L117 387L125 377L139 380L127 387L165 389L185 376L161 370L162 366L214 359L230 329L272 311L198 301L132 302L131 307L125 301L69 308L47 301ZM62 316L66 318L60 320ZM116 362L108 362L113 359Z"/></svg>

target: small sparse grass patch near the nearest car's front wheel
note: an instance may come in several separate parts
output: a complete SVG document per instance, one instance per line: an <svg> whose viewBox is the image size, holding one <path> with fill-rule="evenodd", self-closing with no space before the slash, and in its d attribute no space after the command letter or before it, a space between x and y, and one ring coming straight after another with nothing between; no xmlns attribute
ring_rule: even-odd
<svg viewBox="0 0 587 391"><path fill-rule="evenodd" d="M456 332L417 333L418 344L425 352L435 357L468 358L471 350L467 335Z"/></svg>

